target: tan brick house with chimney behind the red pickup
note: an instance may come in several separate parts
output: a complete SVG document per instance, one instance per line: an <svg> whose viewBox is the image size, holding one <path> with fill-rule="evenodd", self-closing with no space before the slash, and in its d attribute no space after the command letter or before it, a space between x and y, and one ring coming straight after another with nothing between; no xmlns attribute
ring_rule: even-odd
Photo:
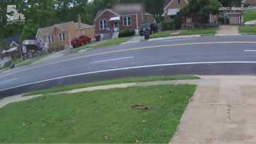
<svg viewBox="0 0 256 144"><path fill-rule="evenodd" d="M71 40L76 36L86 35L94 38L94 27L81 22L81 17L78 17L78 22L65 22L54 24L45 28L39 28L36 33L36 41L44 44L44 47L50 51L71 47Z"/></svg>

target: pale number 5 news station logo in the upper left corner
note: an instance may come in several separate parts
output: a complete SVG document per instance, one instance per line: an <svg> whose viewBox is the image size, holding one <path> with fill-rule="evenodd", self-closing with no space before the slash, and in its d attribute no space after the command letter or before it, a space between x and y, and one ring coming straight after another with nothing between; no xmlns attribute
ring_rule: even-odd
<svg viewBox="0 0 256 144"><path fill-rule="evenodd" d="M7 5L6 17L6 25L22 25L26 22L25 16L18 12L16 5Z"/></svg>

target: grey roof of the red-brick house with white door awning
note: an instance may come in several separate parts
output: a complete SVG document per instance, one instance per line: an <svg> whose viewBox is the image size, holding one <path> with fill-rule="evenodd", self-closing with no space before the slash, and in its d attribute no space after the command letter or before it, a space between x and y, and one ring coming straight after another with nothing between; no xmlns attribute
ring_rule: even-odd
<svg viewBox="0 0 256 144"><path fill-rule="evenodd" d="M95 20L106 11L111 12L116 16L134 15L137 13L143 13L143 15L152 15L151 13L145 12L142 4L118 4L113 6L112 9L98 11Z"/></svg>

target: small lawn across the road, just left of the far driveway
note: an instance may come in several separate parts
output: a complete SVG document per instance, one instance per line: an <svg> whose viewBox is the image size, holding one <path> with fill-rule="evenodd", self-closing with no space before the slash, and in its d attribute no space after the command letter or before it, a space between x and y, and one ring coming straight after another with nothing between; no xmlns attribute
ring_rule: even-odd
<svg viewBox="0 0 256 144"><path fill-rule="evenodd" d="M215 35L218 28L194 28L180 32L180 35Z"/></svg>

